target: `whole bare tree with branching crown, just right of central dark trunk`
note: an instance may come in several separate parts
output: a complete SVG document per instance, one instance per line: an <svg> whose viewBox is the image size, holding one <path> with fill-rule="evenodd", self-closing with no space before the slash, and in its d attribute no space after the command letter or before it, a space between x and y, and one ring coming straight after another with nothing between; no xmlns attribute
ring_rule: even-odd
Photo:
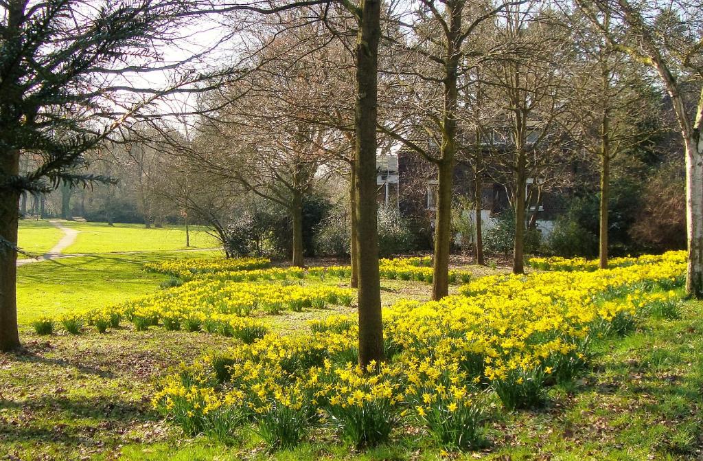
<svg viewBox="0 0 703 461"><path fill-rule="evenodd" d="M516 2L519 4L520 2ZM467 0L422 0L417 11L399 15L396 22L406 37L394 39L405 60L398 60L396 72L406 87L405 110L394 127L383 127L437 168L437 212L434 227L434 275L432 298L449 294L449 251L451 248L451 206L453 175L458 139L458 97L466 84L467 71L498 49L486 48L476 38L482 25L490 23L510 3L494 6ZM415 110L412 110L413 108ZM419 110L418 110L419 107ZM427 133L429 143L417 141ZM436 146L436 149L435 149Z"/></svg>

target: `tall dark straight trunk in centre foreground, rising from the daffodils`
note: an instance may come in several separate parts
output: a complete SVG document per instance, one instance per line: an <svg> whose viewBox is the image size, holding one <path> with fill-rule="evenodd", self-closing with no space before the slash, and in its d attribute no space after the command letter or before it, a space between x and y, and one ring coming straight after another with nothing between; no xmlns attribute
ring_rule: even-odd
<svg viewBox="0 0 703 461"><path fill-rule="evenodd" d="M385 360L378 274L376 123L380 0L361 0L356 37L356 242L359 250L359 365Z"/></svg>

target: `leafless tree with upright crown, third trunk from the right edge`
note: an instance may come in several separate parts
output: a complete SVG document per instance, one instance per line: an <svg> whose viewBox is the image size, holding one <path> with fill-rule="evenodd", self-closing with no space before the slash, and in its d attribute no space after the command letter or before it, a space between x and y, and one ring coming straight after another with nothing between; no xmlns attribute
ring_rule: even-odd
<svg viewBox="0 0 703 461"><path fill-rule="evenodd" d="M518 44L512 56L501 61L489 81L503 103L503 126L491 139L501 144L496 160L508 172L508 192L515 212L512 272L524 272L527 182L560 153L558 123L565 110L563 64L570 49L565 27L541 3L511 6L501 14L498 34Z"/></svg>

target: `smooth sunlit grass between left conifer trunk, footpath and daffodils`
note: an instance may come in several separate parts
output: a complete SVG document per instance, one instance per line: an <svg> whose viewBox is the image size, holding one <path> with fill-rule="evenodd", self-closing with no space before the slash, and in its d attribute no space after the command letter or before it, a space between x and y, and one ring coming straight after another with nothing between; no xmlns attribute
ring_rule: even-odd
<svg viewBox="0 0 703 461"><path fill-rule="evenodd" d="M45 315L53 317L154 293L169 277L143 271L144 264L215 254L217 252L183 251L91 255L20 266L18 320L24 325Z"/></svg>

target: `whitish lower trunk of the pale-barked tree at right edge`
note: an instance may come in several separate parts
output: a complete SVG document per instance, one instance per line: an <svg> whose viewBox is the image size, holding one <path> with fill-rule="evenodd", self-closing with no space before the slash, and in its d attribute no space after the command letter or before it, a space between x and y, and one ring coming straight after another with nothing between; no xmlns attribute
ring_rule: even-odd
<svg viewBox="0 0 703 461"><path fill-rule="evenodd" d="M703 98L702 98L703 99ZM686 229L688 267L686 293L703 298L703 130L686 140Z"/></svg>

